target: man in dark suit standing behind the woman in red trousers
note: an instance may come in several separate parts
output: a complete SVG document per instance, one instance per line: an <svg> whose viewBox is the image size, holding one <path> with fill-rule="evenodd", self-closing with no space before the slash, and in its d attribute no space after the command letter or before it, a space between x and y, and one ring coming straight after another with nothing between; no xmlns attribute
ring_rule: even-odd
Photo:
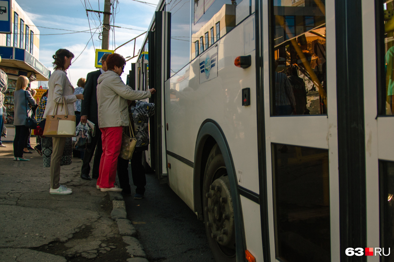
<svg viewBox="0 0 394 262"><path fill-rule="evenodd" d="M84 100L81 104L81 123L86 123L86 120L93 122L95 124L96 134L92 137L91 143L87 145L85 149L84 159L82 159L82 169L81 178L85 180L90 180L90 161L93 157L93 151L96 148L95 159L93 162L92 178L99 178L99 167L100 159L102 154L102 141L101 141L101 131L99 128L99 117L97 112L97 79L99 76L107 71L106 59L108 53L104 54L101 58L102 67L97 70L87 74L85 89L84 89Z"/></svg>

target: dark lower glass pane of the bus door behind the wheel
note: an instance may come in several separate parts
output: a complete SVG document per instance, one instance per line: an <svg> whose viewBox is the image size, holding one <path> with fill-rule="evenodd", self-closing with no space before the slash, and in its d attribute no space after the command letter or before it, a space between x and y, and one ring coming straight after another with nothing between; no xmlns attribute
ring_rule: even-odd
<svg viewBox="0 0 394 262"><path fill-rule="evenodd" d="M272 144L275 256L331 261L328 150Z"/></svg>

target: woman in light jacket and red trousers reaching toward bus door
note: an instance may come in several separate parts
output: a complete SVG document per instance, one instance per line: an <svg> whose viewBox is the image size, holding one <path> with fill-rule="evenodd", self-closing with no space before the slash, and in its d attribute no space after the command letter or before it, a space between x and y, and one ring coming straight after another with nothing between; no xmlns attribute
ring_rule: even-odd
<svg viewBox="0 0 394 262"><path fill-rule="evenodd" d="M119 54L107 57L108 71L97 79L97 104L99 113L99 128L102 139L102 155L100 159L97 189L106 191L122 191L115 187L117 158L121 150L123 126L128 126L127 100L140 100L151 97L156 91L132 90L123 83L120 75L126 65L126 60Z"/></svg>

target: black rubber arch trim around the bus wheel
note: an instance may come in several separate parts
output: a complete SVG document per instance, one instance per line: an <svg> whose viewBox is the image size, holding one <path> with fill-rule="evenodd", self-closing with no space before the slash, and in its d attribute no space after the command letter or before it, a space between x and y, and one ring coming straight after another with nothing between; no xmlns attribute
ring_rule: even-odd
<svg viewBox="0 0 394 262"><path fill-rule="evenodd" d="M219 146L226 164L227 175L229 176L235 220L236 261L245 262L245 232L243 230L241 200L238 190L237 177L234 169L234 163L232 161L229 144L227 143L223 130L220 128L219 124L212 119L206 119L201 124L196 139L193 174L194 208L197 213L202 214L200 182L201 171L205 170L205 166L201 167L201 156L203 156L205 142L210 138L213 138Z"/></svg>

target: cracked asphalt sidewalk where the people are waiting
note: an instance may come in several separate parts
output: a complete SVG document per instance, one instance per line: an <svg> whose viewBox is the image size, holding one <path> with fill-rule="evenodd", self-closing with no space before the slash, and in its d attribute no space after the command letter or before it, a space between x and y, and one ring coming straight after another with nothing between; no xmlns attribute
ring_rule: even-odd
<svg viewBox="0 0 394 262"><path fill-rule="evenodd" d="M24 154L30 161L13 161L12 143L4 144L0 262L147 262L121 194L101 192L96 180L82 180L80 159L61 167L60 183L72 194L52 195L42 157L33 151Z"/></svg>

